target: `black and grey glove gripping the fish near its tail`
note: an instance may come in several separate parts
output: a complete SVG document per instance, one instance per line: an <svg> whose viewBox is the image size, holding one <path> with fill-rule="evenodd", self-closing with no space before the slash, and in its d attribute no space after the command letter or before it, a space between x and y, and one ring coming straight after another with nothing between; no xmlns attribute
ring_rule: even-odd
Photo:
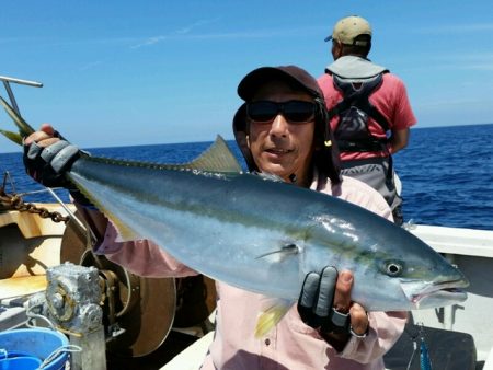
<svg viewBox="0 0 493 370"><path fill-rule="evenodd" d="M56 137L60 137L57 132ZM61 137L60 137L61 138ZM47 187L64 187L82 206L92 206L88 198L66 178L65 173L81 157L82 151L65 139L46 148L36 142L24 146L24 166L26 173Z"/></svg>

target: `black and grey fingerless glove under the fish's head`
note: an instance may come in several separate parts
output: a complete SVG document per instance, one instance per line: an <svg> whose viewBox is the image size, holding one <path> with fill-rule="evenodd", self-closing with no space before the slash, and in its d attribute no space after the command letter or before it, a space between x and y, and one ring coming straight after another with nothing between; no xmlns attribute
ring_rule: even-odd
<svg viewBox="0 0 493 370"><path fill-rule="evenodd" d="M332 308L336 281L337 270L332 266L324 267L321 274L307 274L298 299L298 313L307 325L323 333L348 334L349 314Z"/></svg>

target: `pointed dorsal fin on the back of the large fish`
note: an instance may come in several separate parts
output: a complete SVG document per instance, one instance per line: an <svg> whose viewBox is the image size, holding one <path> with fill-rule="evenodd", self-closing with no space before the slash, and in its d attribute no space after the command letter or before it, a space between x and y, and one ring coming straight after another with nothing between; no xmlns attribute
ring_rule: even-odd
<svg viewBox="0 0 493 370"><path fill-rule="evenodd" d="M180 166L211 172L241 172L240 163L220 135L217 136L216 141L198 158Z"/></svg>

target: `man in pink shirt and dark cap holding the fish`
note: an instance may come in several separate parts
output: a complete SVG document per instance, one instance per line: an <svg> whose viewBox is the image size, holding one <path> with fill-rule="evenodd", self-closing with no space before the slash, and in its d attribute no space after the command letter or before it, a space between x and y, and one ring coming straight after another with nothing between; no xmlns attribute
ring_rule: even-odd
<svg viewBox="0 0 493 370"><path fill-rule="evenodd" d="M277 175L392 220L375 189L340 175L339 152L313 77L294 66L263 67L243 78L238 93L244 104L234 115L233 131L250 171ZM24 141L27 173L41 183L46 178L51 186L58 182L71 189L101 238L95 253L141 276L196 274L151 241L116 242L113 224L60 178L78 152L49 125ZM255 338L265 297L216 281L215 336L200 369L385 369L382 356L402 334L406 313L367 313L351 301L352 286L347 270L328 266L308 274L298 304L271 333Z"/></svg>

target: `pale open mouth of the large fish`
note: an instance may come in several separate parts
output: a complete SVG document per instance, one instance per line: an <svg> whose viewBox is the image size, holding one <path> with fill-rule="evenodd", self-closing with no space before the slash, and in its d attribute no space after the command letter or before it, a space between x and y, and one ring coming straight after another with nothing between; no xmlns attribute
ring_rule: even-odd
<svg viewBox="0 0 493 370"><path fill-rule="evenodd" d="M469 287L467 279L445 282L401 281L401 288L416 310L431 309L463 302Z"/></svg>

